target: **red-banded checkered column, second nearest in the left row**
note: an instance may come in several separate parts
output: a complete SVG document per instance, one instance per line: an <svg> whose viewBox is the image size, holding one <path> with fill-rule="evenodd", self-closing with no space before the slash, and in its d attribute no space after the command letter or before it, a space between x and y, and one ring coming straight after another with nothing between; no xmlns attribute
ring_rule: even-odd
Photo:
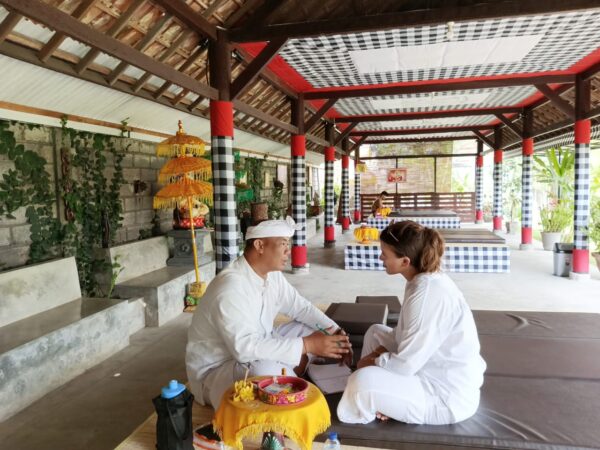
<svg viewBox="0 0 600 450"><path fill-rule="evenodd" d="M292 136L292 216L298 230L292 237L292 267L306 266L306 140Z"/></svg>

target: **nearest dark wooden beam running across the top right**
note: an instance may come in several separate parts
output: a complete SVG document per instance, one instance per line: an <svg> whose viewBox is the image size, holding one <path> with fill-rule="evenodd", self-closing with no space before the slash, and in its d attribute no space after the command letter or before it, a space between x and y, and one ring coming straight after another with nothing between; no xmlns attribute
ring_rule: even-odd
<svg viewBox="0 0 600 450"><path fill-rule="evenodd" d="M408 2L412 5L412 2ZM256 26L250 20L247 25L232 29L234 42L268 41L277 37L302 38L327 34L347 34L365 31L381 31L391 28L437 25L453 21L469 21L533 14L548 14L598 7L595 0L505 0L476 5L457 5L456 2L440 2L437 8L398 8L393 13L334 17L326 20L295 22Z"/></svg>

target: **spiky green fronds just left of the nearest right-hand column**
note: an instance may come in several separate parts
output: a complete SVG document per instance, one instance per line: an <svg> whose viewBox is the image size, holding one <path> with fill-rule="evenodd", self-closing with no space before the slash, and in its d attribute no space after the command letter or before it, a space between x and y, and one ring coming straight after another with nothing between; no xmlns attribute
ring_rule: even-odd
<svg viewBox="0 0 600 450"><path fill-rule="evenodd" d="M534 155L537 181L547 184L550 193L561 200L573 192L575 152L567 147L550 148L544 156Z"/></svg>

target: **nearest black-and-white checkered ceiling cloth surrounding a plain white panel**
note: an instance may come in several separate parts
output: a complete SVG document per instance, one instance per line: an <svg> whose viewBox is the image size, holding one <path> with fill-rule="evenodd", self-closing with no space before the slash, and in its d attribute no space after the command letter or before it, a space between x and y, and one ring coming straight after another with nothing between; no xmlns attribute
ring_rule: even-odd
<svg viewBox="0 0 600 450"><path fill-rule="evenodd" d="M442 44L448 41L448 26L445 23L291 39L280 55L315 88L565 70L596 50L600 41L600 27L597 26L599 21L600 11L589 9L454 24L454 41L541 36L537 45L525 57L502 63L482 62L362 74L356 69L350 52Z"/></svg>

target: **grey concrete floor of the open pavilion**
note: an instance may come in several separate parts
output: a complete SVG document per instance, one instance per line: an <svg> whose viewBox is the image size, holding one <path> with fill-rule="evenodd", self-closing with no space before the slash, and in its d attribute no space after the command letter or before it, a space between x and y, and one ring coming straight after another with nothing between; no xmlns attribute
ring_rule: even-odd
<svg viewBox="0 0 600 450"><path fill-rule="evenodd" d="M404 281L385 272L343 270L344 243L323 248L323 235L308 242L310 274L287 274L314 303L351 302L357 294L402 296ZM513 248L510 274L450 274L473 309L600 312L600 272L572 281L552 276L552 253ZM0 447L11 450L112 449L153 412L152 398L169 379L185 380L184 352L192 315L161 328L146 328L131 345L0 424ZM40 373L40 377L44 374ZM343 443L342 443L343 444Z"/></svg>

